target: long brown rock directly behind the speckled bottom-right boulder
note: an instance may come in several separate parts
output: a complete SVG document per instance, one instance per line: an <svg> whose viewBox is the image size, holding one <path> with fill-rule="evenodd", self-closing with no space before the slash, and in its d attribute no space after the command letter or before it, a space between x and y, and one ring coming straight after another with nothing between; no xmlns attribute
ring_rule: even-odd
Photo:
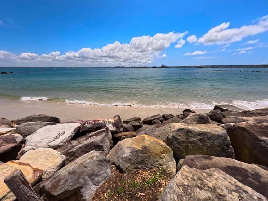
<svg viewBox="0 0 268 201"><path fill-rule="evenodd" d="M182 166L185 165L199 170L219 168L242 184L249 186L268 198L268 171L256 165L243 163L230 158L205 155L186 156Z"/></svg>

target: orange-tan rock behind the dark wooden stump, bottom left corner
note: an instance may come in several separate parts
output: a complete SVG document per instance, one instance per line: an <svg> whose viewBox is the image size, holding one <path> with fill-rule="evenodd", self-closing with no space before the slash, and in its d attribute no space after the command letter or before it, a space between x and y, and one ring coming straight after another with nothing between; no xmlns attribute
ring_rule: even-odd
<svg viewBox="0 0 268 201"><path fill-rule="evenodd" d="M25 175L30 185L35 184L42 176L43 171L37 168L33 168L28 163L20 161L8 161L0 165L0 200L1 201L13 201L16 200L15 195L9 190L4 183L4 178L14 172L16 169L20 169Z"/></svg>

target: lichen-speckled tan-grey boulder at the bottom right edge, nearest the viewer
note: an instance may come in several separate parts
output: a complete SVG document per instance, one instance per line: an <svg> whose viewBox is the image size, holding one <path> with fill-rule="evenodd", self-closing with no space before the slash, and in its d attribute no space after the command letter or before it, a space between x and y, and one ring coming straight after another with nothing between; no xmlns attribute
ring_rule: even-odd
<svg viewBox="0 0 268 201"><path fill-rule="evenodd" d="M199 170L183 166L158 199L179 200L266 201L266 198L218 168Z"/></svg>

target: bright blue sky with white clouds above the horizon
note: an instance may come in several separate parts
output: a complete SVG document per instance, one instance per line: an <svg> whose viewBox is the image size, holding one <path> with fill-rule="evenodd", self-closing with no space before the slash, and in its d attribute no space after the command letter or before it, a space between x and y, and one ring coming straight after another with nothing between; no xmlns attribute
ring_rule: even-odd
<svg viewBox="0 0 268 201"><path fill-rule="evenodd" d="M268 1L0 0L0 67L268 63Z"/></svg>

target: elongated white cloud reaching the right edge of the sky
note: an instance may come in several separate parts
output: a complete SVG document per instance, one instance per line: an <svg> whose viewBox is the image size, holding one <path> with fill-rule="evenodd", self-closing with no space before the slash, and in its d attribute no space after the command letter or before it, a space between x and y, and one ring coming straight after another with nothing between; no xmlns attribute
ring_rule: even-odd
<svg viewBox="0 0 268 201"><path fill-rule="evenodd" d="M224 22L213 27L208 33L199 38L197 42L205 45L221 45L241 41L244 37L267 31L268 18L264 16L257 24L242 26L240 28L227 29L229 25L230 22Z"/></svg>

